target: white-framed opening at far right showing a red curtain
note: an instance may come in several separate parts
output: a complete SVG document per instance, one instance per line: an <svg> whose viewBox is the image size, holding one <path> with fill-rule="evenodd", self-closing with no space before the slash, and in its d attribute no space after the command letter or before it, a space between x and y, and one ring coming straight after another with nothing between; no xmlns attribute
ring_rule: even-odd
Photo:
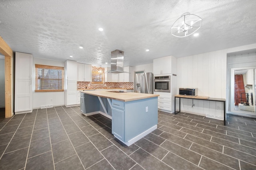
<svg viewBox="0 0 256 170"><path fill-rule="evenodd" d="M230 111L255 115L256 67L231 68Z"/></svg>

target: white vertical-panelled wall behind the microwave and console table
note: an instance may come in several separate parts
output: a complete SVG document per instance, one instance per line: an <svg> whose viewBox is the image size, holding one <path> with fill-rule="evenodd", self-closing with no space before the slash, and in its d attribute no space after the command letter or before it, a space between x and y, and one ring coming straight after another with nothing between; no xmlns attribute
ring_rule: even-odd
<svg viewBox="0 0 256 170"><path fill-rule="evenodd" d="M177 93L179 88L198 88L198 96L226 98L226 50L178 58ZM199 115L224 115L222 102L181 99L180 109Z"/></svg>

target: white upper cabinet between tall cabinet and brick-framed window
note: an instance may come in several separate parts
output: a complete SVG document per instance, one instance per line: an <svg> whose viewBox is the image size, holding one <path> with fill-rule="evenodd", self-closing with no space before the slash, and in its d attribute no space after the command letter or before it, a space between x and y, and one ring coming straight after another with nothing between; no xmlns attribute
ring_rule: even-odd
<svg viewBox="0 0 256 170"><path fill-rule="evenodd" d="M77 63L77 81L92 82L92 65Z"/></svg>

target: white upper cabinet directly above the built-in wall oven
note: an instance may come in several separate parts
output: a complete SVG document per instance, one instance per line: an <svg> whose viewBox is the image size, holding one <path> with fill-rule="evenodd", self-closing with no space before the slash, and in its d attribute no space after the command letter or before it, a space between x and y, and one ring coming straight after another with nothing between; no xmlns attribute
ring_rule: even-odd
<svg viewBox="0 0 256 170"><path fill-rule="evenodd" d="M154 74L177 74L177 59L173 56L153 60Z"/></svg>

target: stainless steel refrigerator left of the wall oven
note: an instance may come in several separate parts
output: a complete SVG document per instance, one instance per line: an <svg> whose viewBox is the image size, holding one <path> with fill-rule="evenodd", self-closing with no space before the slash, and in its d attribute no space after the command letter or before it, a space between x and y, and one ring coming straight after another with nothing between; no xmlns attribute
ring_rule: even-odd
<svg viewBox="0 0 256 170"><path fill-rule="evenodd" d="M153 78L152 72L135 74L134 92L153 94Z"/></svg>

